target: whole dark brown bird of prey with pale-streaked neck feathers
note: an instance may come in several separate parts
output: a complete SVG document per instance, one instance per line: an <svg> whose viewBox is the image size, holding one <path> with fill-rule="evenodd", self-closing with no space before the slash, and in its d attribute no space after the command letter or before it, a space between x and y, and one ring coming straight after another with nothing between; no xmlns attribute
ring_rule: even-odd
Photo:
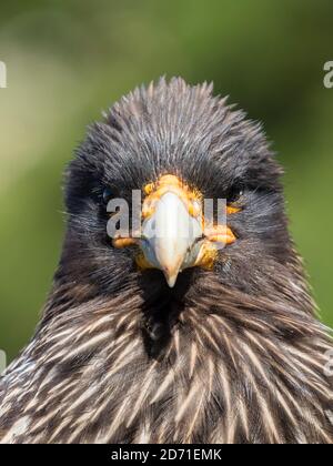
<svg viewBox="0 0 333 466"><path fill-rule="evenodd" d="M0 379L0 442L331 444L332 335L282 175L208 82L161 78L91 124L52 290Z"/></svg>

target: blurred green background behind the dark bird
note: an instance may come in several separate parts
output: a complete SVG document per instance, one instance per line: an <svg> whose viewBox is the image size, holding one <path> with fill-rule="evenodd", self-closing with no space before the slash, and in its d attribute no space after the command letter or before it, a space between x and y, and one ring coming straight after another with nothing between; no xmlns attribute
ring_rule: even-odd
<svg viewBox="0 0 333 466"><path fill-rule="evenodd" d="M161 74L213 80L264 122L291 230L333 325L332 0L1 2L0 348L33 332L62 242L61 180L85 125Z"/></svg>

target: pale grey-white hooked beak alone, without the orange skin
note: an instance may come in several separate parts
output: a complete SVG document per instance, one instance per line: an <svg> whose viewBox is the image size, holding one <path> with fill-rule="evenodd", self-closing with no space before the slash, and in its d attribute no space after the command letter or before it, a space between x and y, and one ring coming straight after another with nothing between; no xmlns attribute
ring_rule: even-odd
<svg viewBox="0 0 333 466"><path fill-rule="evenodd" d="M153 214L143 222L140 245L145 261L161 270L168 285L173 287L178 274L194 265L202 235L200 217L189 213L178 194L165 192Z"/></svg>

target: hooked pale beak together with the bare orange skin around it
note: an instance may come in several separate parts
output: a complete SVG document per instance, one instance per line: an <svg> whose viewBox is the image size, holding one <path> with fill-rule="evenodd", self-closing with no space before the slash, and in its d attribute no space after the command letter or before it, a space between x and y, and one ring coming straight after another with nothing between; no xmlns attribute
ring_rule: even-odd
<svg viewBox="0 0 333 466"><path fill-rule="evenodd" d="M214 224L214 221L204 217L201 194L178 176L163 175L157 183L147 184L144 192L143 223L139 236L119 236L113 240L113 245L139 245L141 251L135 256L138 266L141 270L159 269L170 287L174 286L184 269L212 269L220 246L235 241L225 222ZM228 214L239 210L226 206Z"/></svg>

